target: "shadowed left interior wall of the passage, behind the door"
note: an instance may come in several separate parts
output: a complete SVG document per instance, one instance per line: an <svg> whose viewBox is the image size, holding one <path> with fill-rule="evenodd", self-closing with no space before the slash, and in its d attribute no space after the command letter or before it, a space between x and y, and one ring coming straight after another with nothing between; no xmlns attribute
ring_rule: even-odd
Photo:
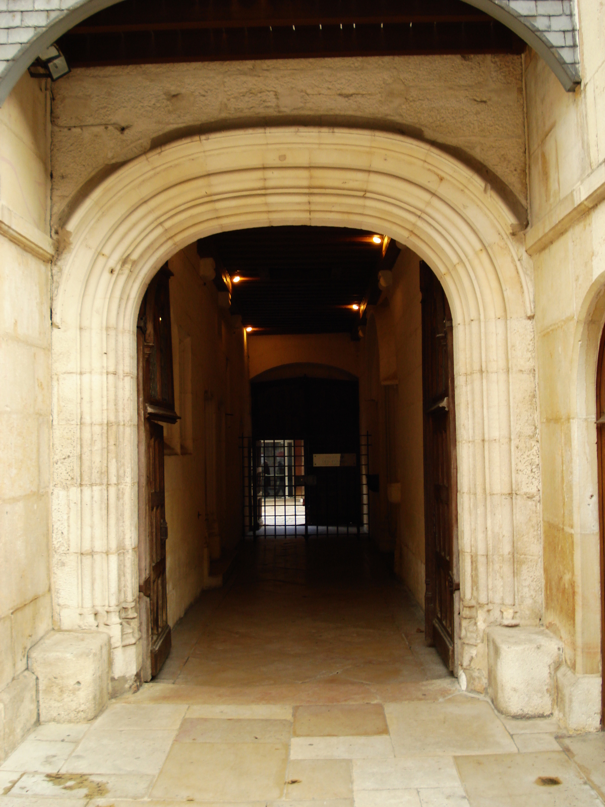
<svg viewBox="0 0 605 807"><path fill-rule="evenodd" d="M175 407L181 416L175 426L165 426L166 578L174 625L206 582L204 408L215 407L215 492L225 550L241 537L239 437L249 406L244 329L219 307L214 284L200 277L195 245L170 258L169 269Z"/></svg>

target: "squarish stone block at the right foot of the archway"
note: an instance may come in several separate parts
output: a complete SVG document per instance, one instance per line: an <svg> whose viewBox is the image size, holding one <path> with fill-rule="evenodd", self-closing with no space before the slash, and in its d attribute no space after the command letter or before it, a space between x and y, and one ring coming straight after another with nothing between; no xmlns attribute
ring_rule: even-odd
<svg viewBox="0 0 605 807"><path fill-rule="evenodd" d="M511 717L552 714L562 662L562 642L544 628L490 628L487 679L496 709Z"/></svg>

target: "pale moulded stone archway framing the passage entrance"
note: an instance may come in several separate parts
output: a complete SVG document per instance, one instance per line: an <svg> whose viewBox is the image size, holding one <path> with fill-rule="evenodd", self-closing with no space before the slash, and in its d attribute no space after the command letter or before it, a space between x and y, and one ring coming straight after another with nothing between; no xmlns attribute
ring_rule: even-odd
<svg viewBox="0 0 605 807"><path fill-rule="evenodd" d="M109 633L112 676L136 674L136 312L177 249L219 230L279 224L386 232L432 266L448 295L461 667L482 688L486 627L536 624L542 609L532 293L506 204L453 157L392 134L191 137L124 165L73 212L53 303L56 622Z"/></svg>

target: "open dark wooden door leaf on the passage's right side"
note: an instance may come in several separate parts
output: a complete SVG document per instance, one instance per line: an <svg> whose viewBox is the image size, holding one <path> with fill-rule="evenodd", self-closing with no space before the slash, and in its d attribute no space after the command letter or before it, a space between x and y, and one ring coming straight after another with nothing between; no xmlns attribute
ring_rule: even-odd
<svg viewBox="0 0 605 807"><path fill-rule="evenodd" d="M459 606L456 416L452 315L429 267L420 264L424 409L425 634L455 668Z"/></svg>

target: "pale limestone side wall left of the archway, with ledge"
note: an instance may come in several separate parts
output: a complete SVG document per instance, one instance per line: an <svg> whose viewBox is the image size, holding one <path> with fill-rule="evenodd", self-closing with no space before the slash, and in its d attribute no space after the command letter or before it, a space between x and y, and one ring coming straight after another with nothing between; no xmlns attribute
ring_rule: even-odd
<svg viewBox="0 0 605 807"><path fill-rule="evenodd" d="M27 651L52 627L50 98L0 109L0 760L37 719Z"/></svg>

